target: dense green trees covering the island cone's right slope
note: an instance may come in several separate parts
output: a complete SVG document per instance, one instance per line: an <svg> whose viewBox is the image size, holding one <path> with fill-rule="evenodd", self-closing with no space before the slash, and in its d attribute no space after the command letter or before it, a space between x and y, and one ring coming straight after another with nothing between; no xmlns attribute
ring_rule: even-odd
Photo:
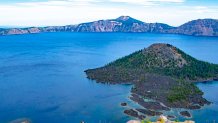
<svg viewBox="0 0 218 123"><path fill-rule="evenodd" d="M199 61L183 51L177 49L178 53L187 61L187 65L182 68L168 68L163 70L163 74L176 78L198 80L217 77L218 65Z"/></svg>

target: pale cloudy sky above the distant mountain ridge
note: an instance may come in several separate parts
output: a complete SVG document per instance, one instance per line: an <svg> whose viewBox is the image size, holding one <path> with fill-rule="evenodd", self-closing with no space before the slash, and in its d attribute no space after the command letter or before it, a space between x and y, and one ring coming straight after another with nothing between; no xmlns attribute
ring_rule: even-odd
<svg viewBox="0 0 218 123"><path fill-rule="evenodd" d="M0 0L0 26L60 26L121 15L179 26L218 19L218 0Z"/></svg>

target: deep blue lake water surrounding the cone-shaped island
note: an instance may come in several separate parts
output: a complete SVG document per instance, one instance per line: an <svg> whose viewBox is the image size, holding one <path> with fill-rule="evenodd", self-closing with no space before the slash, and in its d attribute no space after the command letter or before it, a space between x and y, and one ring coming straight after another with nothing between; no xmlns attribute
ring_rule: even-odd
<svg viewBox="0 0 218 123"><path fill-rule="evenodd" d="M84 70L148 47L170 43L218 64L218 38L144 33L44 33L0 37L0 123L125 123L121 102L130 85L97 84ZM218 82L197 84L213 104L192 111L197 123L218 121ZM180 118L183 120L182 118Z"/></svg>

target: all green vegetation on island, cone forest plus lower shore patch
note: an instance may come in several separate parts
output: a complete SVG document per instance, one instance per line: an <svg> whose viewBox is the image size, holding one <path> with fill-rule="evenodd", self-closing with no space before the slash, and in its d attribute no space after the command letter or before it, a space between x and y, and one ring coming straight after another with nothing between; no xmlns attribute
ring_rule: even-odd
<svg viewBox="0 0 218 123"><path fill-rule="evenodd" d="M171 45L167 46L174 48ZM131 71L134 71L133 73L137 73L138 75L139 71L144 71L180 79L178 80L178 86L171 88L171 91L167 96L167 99L170 102L186 100L188 95L202 95L203 93L194 84L185 81L217 77L218 65L199 61L177 48L175 48L175 51L186 61L186 64L182 67L179 67L178 65L181 63L182 59L178 59L179 61L177 61L175 59L170 59L169 57L163 58L158 53L152 51L145 53L143 50L118 59L108 66L117 67L120 71L130 72L131 69ZM122 72L121 74L122 75L120 76L125 76L125 78L129 77L126 72ZM138 79L140 81L145 80L143 76L139 76Z"/></svg>

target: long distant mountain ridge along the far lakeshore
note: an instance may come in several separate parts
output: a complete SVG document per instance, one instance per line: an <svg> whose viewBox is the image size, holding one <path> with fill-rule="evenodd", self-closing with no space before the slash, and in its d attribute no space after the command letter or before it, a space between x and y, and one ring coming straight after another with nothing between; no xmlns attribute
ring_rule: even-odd
<svg viewBox="0 0 218 123"><path fill-rule="evenodd" d="M145 23L129 16L67 26L0 29L0 35L42 32L142 32L171 33L193 36L218 36L218 20L199 19L172 27L163 23Z"/></svg>

